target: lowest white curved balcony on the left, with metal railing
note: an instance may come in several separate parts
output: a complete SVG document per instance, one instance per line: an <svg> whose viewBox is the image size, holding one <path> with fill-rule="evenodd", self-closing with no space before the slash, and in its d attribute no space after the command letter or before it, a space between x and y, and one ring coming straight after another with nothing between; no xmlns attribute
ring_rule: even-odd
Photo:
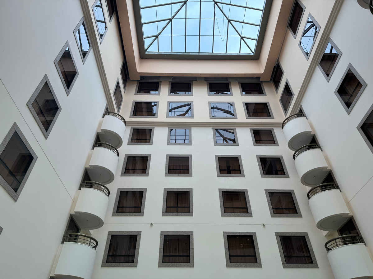
<svg viewBox="0 0 373 279"><path fill-rule="evenodd" d="M91 279L97 245L97 240L88 235L78 233L65 235L54 277Z"/></svg>

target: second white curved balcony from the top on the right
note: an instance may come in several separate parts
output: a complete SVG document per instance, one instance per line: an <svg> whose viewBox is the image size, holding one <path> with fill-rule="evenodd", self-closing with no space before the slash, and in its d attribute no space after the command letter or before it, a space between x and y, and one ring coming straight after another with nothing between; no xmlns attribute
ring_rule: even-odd
<svg viewBox="0 0 373 279"><path fill-rule="evenodd" d="M295 168L301 182L305 186L319 185L325 176L328 165L321 152L319 145L306 144L294 152Z"/></svg>

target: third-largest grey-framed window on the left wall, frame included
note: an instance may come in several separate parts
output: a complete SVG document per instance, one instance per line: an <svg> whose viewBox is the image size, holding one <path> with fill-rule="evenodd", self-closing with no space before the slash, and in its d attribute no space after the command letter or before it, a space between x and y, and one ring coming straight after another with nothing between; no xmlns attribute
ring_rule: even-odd
<svg viewBox="0 0 373 279"><path fill-rule="evenodd" d="M57 55L57 58L54 60L54 64L56 65L66 94L68 94L69 96L79 73L76 70L74 58L71 56L70 45L68 41L63 46L60 53Z"/></svg>

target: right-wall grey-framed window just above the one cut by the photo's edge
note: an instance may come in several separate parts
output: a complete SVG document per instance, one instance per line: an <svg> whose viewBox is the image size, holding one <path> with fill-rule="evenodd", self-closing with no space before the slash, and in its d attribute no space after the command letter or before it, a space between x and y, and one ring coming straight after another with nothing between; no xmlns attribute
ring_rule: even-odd
<svg viewBox="0 0 373 279"><path fill-rule="evenodd" d="M339 81L338 86L334 91L335 96L337 96L347 114L350 114L366 86L367 83L355 68L352 67L352 64L349 63L341 81Z"/></svg>

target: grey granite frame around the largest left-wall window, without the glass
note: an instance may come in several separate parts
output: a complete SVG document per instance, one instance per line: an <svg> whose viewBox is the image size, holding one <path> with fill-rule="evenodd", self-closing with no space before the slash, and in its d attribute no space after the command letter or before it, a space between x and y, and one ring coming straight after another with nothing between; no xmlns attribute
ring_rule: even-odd
<svg viewBox="0 0 373 279"><path fill-rule="evenodd" d="M19 129L19 127L16 124L16 122L13 123L12 127L9 129L9 132L6 134L4 140L1 142L1 144L0 144L0 154L4 151L6 145L10 141L10 138L12 138L12 136L13 136L13 134L15 132L17 132L17 134L19 135L19 137L21 138L21 140L23 141L23 143L26 145L28 151L31 153L32 157L34 157L34 159L31 162L31 165L29 166L29 168L28 168L28 170L27 170L27 172L25 174L25 177L22 180L21 185L19 185L19 188L18 188L17 192L15 192L13 190L13 188L10 187L10 185L3 179L3 177L0 176L0 185L14 199L14 201L17 201L18 198L19 198L19 195L21 195L23 187L25 187L26 181L27 181L28 177L30 176L32 168L35 166L35 163L36 163L36 160L38 159L38 156L36 155L36 153L32 149L31 145L26 140L25 135L23 135L21 129ZM1 230L0 230L0 233L1 233Z"/></svg>

